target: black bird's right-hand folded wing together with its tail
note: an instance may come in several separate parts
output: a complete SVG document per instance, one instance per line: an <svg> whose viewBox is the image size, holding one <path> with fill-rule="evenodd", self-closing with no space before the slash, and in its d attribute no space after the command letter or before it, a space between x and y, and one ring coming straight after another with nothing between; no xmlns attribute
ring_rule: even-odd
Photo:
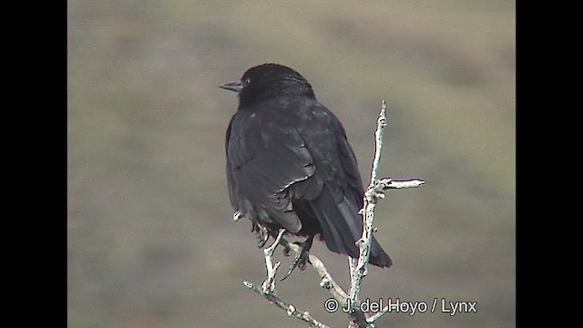
<svg viewBox="0 0 583 328"><path fill-rule="evenodd" d="M315 217L331 251L358 257L355 241L363 233L363 182L346 132L330 110L314 104L299 130L316 171L292 186L302 191L302 210ZM304 186L305 185L305 186ZM391 259L373 238L371 263L387 267Z"/></svg>

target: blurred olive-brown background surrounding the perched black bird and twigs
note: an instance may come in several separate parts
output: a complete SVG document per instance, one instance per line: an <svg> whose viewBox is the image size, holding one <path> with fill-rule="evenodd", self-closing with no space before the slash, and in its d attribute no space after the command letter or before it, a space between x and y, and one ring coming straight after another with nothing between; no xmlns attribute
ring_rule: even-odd
<svg viewBox="0 0 583 328"><path fill-rule="evenodd" d="M394 266L371 269L363 298L477 302L378 326L515 326L515 14L502 0L69 1L69 326L305 326L244 289L263 258L227 196L237 98L217 86L265 62L312 83L364 179L385 99L381 175L426 180L377 208ZM312 250L347 287L346 259ZM346 326L318 282L307 269L278 291Z"/></svg>

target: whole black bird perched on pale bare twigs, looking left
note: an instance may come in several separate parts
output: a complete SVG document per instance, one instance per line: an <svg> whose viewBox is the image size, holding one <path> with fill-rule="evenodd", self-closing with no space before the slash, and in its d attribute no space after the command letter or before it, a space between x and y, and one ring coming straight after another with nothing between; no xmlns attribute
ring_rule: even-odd
<svg viewBox="0 0 583 328"><path fill-rule="evenodd" d="M363 182L343 125L310 83L290 67L263 64L220 87L239 95L225 145L230 202L251 220L258 246L284 228L307 237L303 265L317 234L330 251L358 258ZM369 262L392 264L374 238Z"/></svg>

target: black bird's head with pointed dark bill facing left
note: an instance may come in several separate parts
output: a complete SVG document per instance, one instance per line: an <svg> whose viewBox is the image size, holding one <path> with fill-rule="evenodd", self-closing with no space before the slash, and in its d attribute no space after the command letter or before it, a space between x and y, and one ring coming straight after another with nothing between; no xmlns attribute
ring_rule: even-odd
<svg viewBox="0 0 583 328"><path fill-rule="evenodd" d="M279 64L251 67L240 80L220 87L239 95L239 108L284 95L315 98L312 86L300 73Z"/></svg>

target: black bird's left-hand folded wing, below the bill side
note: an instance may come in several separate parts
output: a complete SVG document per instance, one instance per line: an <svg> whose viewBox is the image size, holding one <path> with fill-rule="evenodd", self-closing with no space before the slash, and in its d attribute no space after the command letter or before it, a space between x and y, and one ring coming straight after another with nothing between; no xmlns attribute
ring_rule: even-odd
<svg viewBox="0 0 583 328"><path fill-rule="evenodd" d="M315 167L302 136L272 117L238 112L227 136L227 179L233 207L290 232L302 229L290 186L312 177Z"/></svg>

